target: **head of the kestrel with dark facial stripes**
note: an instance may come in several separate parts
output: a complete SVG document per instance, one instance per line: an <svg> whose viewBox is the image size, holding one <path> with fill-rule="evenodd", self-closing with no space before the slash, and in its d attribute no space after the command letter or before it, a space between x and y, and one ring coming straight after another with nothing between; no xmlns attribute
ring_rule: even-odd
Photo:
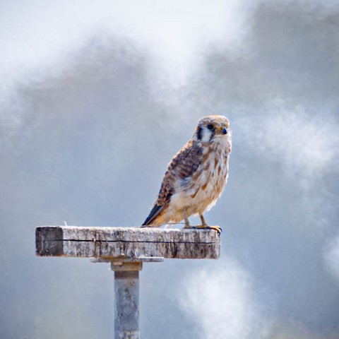
<svg viewBox="0 0 339 339"><path fill-rule="evenodd" d="M203 143L213 142L230 136L230 121L223 115L208 115L198 121L194 140Z"/></svg>

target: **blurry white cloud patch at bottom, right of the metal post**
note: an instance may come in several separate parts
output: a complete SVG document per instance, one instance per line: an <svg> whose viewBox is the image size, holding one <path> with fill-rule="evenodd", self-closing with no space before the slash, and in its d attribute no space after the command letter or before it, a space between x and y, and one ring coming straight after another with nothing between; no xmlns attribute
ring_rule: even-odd
<svg viewBox="0 0 339 339"><path fill-rule="evenodd" d="M180 304L196 321L200 338L264 338L267 323L254 299L249 273L227 258L222 268L191 273Z"/></svg>

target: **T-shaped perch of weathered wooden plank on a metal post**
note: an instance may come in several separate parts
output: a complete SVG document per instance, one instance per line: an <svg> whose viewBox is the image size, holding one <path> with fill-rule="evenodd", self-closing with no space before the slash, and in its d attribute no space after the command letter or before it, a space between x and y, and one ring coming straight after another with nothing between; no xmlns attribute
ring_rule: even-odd
<svg viewBox="0 0 339 339"><path fill-rule="evenodd" d="M114 338L139 339L139 270L164 258L218 259L215 230L44 226L35 230L37 256L95 258L114 270Z"/></svg>

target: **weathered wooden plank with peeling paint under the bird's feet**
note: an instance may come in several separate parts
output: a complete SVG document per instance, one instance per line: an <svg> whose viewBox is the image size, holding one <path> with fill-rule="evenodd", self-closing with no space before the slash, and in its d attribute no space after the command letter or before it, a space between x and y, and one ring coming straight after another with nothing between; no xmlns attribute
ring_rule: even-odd
<svg viewBox="0 0 339 339"><path fill-rule="evenodd" d="M43 226L36 229L36 254L131 261L219 258L220 236L215 230Z"/></svg>

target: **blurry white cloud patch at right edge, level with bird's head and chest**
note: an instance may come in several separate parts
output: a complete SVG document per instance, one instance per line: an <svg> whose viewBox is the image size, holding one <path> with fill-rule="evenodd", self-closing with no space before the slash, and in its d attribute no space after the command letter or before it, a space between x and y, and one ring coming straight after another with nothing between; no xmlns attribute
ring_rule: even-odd
<svg viewBox="0 0 339 339"><path fill-rule="evenodd" d="M249 148L280 162L304 187L334 170L339 148L335 121L308 114L302 107L285 109L279 103L266 113L238 121Z"/></svg>

